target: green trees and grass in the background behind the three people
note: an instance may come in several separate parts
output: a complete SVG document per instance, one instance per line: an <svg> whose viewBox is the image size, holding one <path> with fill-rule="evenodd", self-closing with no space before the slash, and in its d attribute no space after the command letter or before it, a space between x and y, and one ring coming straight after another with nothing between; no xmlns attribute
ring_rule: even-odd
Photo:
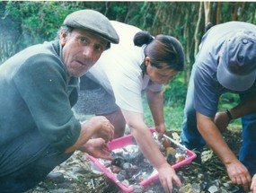
<svg viewBox="0 0 256 193"><path fill-rule="evenodd" d="M2 1L0 64L23 48L54 39L66 15L80 9L94 9L110 20L135 25L154 36L172 35L181 41L185 70L164 86L164 116L170 130L181 130L190 69L207 23L256 22L255 2ZM236 95L224 95L219 110L230 109L237 102ZM146 122L153 125L146 105L145 109Z"/></svg>

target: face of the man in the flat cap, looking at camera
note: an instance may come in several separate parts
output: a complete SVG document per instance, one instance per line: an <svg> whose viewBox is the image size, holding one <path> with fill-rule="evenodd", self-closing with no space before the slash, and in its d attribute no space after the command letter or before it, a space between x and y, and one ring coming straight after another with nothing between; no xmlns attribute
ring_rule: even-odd
<svg viewBox="0 0 256 193"><path fill-rule="evenodd" d="M61 32L63 61L69 76L84 75L101 57L108 42L91 31L74 29L71 33Z"/></svg>

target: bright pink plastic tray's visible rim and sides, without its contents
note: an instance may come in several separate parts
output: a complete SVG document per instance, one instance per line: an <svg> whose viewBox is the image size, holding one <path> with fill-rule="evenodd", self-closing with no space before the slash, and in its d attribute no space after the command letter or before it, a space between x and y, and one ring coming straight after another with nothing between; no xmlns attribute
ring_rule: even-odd
<svg viewBox="0 0 256 193"><path fill-rule="evenodd" d="M150 129L151 133L154 133L155 130L154 129ZM172 138L168 137L168 136L165 136L167 138L169 138L172 143L175 143L176 145L180 145L179 143L175 142ZM123 136L123 137L120 137L120 138L117 138L117 139L114 139L112 140L110 143L109 143L109 147L110 147L110 150L114 150L114 149L119 149L119 148L122 148L124 146L127 146L127 145L132 145L134 144L134 138L133 136L131 135L128 135L128 136ZM180 145L182 146L182 145ZM183 147L183 146L182 146ZM181 166L183 165L186 165L186 164L189 164L194 158L196 158L196 154L191 152L189 149L187 149L186 147L183 147L184 149L187 150L187 155L188 155L188 158L181 161L181 162L178 162L174 165L172 165L172 168L173 169L177 169L177 168L180 168ZM115 184L117 184L119 186L119 188L122 190L122 192L124 193L129 193L129 192L133 192L135 189L133 188L132 185L130 186L125 186L124 184L122 184L114 175L111 171L109 171L103 164L102 162L99 162L98 159L94 158L93 156L91 155L88 155L87 154L87 157L95 164L97 165L103 172L106 176L108 176L110 178L110 180L112 180ZM139 184L143 187L146 187L148 186L152 181L154 180L157 180L158 179L158 173L156 171L156 173L150 177L149 179L146 179L146 180L143 180L141 181Z"/></svg>

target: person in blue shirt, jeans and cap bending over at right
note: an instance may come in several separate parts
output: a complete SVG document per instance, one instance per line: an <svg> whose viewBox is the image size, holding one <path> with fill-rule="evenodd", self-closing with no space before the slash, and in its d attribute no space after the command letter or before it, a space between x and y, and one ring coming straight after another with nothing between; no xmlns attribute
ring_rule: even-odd
<svg viewBox="0 0 256 193"><path fill-rule="evenodd" d="M256 172L256 26L226 22L203 36L193 66L185 105L181 143L202 151L209 145L225 164L229 178L249 189ZM232 110L217 112L225 92L240 95ZM239 160L226 145L221 131L242 118L243 145Z"/></svg>

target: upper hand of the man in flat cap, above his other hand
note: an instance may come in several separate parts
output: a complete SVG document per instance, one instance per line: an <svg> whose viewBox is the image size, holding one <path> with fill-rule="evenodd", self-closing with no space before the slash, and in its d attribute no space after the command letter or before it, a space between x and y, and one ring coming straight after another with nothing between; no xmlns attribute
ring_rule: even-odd
<svg viewBox="0 0 256 193"><path fill-rule="evenodd" d="M106 142L113 139L115 128L107 118L103 116L95 116L89 121L92 124L92 127L97 128L93 133L93 138L103 138Z"/></svg>

